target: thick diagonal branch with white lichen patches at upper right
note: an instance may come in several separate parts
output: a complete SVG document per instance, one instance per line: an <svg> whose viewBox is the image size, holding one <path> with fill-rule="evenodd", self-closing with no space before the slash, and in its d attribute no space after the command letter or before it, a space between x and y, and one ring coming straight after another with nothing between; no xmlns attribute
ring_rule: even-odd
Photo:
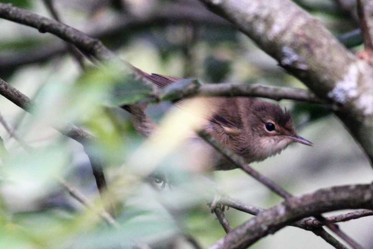
<svg viewBox="0 0 373 249"><path fill-rule="evenodd" d="M201 1L318 97L339 105L336 115L373 163L373 68L368 63L357 59L320 21L290 0Z"/></svg>

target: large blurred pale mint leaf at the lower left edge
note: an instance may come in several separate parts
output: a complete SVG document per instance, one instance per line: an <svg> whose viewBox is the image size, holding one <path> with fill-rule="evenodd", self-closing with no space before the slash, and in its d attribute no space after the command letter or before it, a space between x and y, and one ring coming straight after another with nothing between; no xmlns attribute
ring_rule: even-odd
<svg viewBox="0 0 373 249"><path fill-rule="evenodd" d="M33 208L34 199L45 194L46 185L66 167L68 155L60 143L40 146L31 154L10 153L9 162L1 170L5 179L1 190L13 210Z"/></svg>

